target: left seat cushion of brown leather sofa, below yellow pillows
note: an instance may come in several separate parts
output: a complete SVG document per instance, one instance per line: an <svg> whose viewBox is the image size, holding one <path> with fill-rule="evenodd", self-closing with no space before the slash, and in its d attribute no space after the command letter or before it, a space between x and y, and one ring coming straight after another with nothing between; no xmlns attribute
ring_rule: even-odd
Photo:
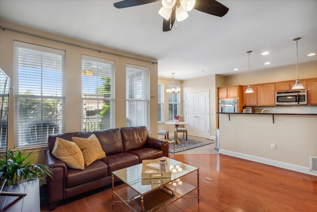
<svg viewBox="0 0 317 212"><path fill-rule="evenodd" d="M65 187L70 188L73 186L81 185L93 180L106 177L108 175L108 167L106 163L97 160L85 166L84 170L67 169Z"/></svg>

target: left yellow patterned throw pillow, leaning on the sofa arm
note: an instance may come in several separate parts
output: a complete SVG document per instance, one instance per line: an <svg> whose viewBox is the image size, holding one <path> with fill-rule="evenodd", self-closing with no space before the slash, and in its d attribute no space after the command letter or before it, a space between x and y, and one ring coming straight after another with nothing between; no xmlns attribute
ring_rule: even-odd
<svg viewBox="0 0 317 212"><path fill-rule="evenodd" d="M56 138L52 154L73 169L85 168L84 156L75 142Z"/></svg>

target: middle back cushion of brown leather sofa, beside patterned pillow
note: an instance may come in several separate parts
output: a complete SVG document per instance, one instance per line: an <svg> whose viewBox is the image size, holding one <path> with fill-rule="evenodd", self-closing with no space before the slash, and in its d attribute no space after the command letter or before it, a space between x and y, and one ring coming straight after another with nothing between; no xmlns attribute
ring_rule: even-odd
<svg viewBox="0 0 317 212"><path fill-rule="evenodd" d="M100 141L106 155L123 152L120 129L98 130L93 132Z"/></svg>

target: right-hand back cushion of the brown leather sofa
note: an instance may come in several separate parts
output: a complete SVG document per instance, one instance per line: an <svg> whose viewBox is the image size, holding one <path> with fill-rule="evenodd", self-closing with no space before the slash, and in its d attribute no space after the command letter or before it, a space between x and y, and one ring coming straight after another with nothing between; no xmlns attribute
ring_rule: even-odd
<svg viewBox="0 0 317 212"><path fill-rule="evenodd" d="M143 148L149 137L147 127L121 128L124 151Z"/></svg>

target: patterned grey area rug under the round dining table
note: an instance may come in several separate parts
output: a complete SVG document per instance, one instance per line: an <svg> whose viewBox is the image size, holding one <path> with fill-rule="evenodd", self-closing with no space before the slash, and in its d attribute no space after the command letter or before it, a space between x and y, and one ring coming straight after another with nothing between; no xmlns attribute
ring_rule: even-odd
<svg viewBox="0 0 317 212"><path fill-rule="evenodd" d="M197 148L200 146L214 143L214 141L210 141L210 140L198 140L198 139L191 139L191 138L188 138L187 141L185 138L178 138L178 140L179 140L179 142L181 142L181 144L169 143L169 152L170 153L185 151L188 149ZM175 146L173 146L173 145L175 145Z"/></svg>

